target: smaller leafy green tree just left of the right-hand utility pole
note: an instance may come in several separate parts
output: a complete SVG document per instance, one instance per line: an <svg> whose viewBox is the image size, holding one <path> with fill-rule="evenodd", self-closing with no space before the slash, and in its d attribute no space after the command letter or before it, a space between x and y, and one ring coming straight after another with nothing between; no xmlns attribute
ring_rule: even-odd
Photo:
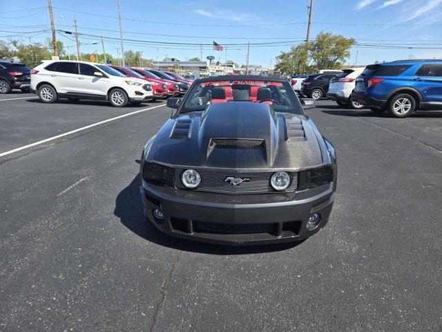
<svg viewBox="0 0 442 332"><path fill-rule="evenodd" d="M281 52L276 57L276 71L285 74L303 74L311 71L308 59L308 50L305 43L291 46L288 52Z"/></svg>

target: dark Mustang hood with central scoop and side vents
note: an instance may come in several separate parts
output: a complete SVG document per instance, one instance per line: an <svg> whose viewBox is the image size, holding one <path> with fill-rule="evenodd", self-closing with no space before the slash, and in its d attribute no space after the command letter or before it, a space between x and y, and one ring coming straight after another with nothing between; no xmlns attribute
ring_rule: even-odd
<svg viewBox="0 0 442 332"><path fill-rule="evenodd" d="M323 164L320 139L306 116L275 113L256 102L226 102L168 120L147 159L183 167L302 169Z"/></svg>

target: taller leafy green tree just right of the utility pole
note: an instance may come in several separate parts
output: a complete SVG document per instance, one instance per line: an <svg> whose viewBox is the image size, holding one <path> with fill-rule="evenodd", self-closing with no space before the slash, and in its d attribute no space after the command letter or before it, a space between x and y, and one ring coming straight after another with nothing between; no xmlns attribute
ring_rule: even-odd
<svg viewBox="0 0 442 332"><path fill-rule="evenodd" d="M350 56L350 48L356 39L343 35L321 32L309 44L309 55L316 69L339 69Z"/></svg>

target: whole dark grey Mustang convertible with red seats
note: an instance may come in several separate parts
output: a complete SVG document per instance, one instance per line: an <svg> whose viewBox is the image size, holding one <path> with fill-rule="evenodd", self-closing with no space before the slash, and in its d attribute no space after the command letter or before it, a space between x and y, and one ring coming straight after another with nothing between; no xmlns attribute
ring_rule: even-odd
<svg viewBox="0 0 442 332"><path fill-rule="evenodd" d="M323 228L336 190L332 144L289 82L195 80L142 152L140 192L159 230L198 241L300 241Z"/></svg>

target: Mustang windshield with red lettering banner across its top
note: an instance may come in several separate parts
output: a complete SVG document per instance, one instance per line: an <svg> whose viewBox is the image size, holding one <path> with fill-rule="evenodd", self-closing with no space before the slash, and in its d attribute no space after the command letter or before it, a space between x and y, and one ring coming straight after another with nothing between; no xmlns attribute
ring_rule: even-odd
<svg viewBox="0 0 442 332"><path fill-rule="evenodd" d="M253 102L268 104L273 111L303 114L289 82L262 80L220 80L199 82L187 94L180 113L204 111L210 104Z"/></svg>

